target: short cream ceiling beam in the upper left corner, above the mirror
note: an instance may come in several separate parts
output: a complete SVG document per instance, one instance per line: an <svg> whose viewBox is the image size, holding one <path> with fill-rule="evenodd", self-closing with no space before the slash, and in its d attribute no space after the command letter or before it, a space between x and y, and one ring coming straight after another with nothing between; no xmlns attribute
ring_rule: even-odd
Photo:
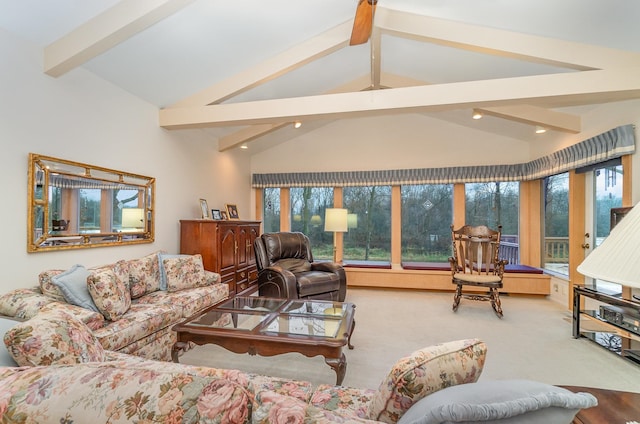
<svg viewBox="0 0 640 424"><path fill-rule="evenodd" d="M123 0L45 47L44 72L59 77L193 1Z"/></svg>

